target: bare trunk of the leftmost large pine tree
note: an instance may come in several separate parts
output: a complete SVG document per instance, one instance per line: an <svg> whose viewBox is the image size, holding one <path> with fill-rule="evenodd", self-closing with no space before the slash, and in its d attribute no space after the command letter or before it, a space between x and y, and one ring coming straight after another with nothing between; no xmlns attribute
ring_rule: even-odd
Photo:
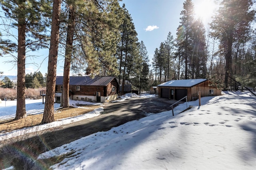
<svg viewBox="0 0 256 170"><path fill-rule="evenodd" d="M24 10L24 5L19 5L21 10ZM18 72L17 72L17 108L15 119L25 118L26 103L25 103L25 61L26 61L26 42L25 42L26 24L25 17L20 14L18 18Z"/></svg>

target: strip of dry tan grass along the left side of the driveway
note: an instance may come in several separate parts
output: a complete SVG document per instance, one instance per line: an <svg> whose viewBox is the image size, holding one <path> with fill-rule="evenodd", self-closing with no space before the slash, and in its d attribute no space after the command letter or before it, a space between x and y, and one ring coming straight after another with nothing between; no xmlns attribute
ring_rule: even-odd
<svg viewBox="0 0 256 170"><path fill-rule="evenodd" d="M67 117L83 115L101 106L86 105L84 107L86 107L86 109L81 109L81 108L58 109L54 113L54 119L55 121L58 121L60 119L67 118ZM39 114L39 115L28 115L25 119L19 119L19 120L15 120L15 119L0 120L0 132L10 132L16 129L22 129L25 127L33 127L36 125L40 125L42 118L43 118L43 114Z"/></svg>

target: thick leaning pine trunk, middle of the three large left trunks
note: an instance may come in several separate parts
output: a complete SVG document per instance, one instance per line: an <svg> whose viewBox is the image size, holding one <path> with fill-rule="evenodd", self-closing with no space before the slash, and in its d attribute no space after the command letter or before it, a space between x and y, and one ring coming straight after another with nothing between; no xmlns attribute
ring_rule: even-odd
<svg viewBox="0 0 256 170"><path fill-rule="evenodd" d="M48 75L46 82L46 97L44 105L44 115L41 124L54 121L54 97L56 85L56 70L58 57L58 43L60 32L60 5L61 0L54 0L52 6L52 31L50 39Z"/></svg>

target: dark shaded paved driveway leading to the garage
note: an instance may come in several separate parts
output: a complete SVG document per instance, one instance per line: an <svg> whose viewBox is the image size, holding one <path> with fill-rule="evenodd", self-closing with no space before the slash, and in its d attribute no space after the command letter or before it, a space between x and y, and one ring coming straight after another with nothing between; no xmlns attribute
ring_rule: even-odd
<svg viewBox="0 0 256 170"><path fill-rule="evenodd" d="M48 147L56 148L90 134L110 130L112 127L145 117L148 113L170 110L170 103L162 102L158 98L131 98L104 105L104 112L98 117L63 125L44 134L42 137Z"/></svg>

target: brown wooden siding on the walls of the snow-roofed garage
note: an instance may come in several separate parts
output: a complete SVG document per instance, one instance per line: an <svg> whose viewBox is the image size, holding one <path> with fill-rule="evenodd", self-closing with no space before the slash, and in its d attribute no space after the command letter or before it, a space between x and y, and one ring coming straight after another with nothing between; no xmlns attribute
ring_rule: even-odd
<svg viewBox="0 0 256 170"><path fill-rule="evenodd" d="M159 86L158 87L158 95L161 95L161 89L170 89L169 93L171 93L171 90L175 89L186 89L187 90L187 96L188 96L188 101L192 101L193 99L198 98L198 91L201 91L201 97L206 97L206 96L218 96L221 95L221 89L217 89L216 86L212 86L212 81L207 80L202 83L199 83L198 85L195 85L193 87L170 87L170 86ZM214 90L213 94L210 94L210 89ZM170 97L171 99L171 97ZM174 94L174 100L176 100L176 95Z"/></svg>

